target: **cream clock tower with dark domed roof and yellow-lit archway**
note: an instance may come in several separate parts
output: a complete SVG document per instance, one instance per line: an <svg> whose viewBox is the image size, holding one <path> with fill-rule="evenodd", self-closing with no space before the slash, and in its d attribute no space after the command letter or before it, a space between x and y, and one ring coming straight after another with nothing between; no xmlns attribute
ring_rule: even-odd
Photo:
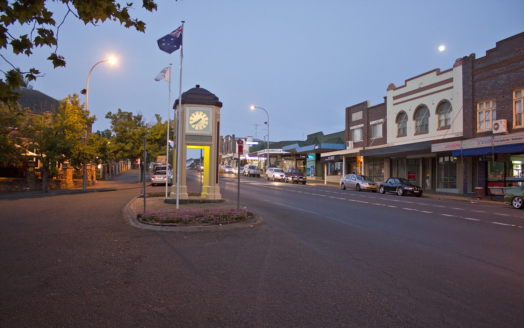
<svg viewBox="0 0 524 328"><path fill-rule="evenodd" d="M174 102L175 119L181 109L180 147L174 140L174 152L180 150L180 199L188 199L188 188L185 183L185 163L187 163L187 149L204 150L204 178L202 186L203 199L221 199L219 187L219 141L220 141L220 109L222 102L213 93L200 88L195 88L182 93L182 105L178 99ZM178 129L178 126L175 127ZM177 130L175 130L177 131ZM173 156L173 160L176 157ZM177 198L176 166L173 163L173 186L171 198Z"/></svg>

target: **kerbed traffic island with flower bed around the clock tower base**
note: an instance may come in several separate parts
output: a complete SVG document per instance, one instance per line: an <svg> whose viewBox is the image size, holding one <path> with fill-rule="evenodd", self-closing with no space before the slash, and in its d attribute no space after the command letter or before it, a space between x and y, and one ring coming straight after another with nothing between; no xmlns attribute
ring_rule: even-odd
<svg viewBox="0 0 524 328"><path fill-rule="evenodd" d="M175 204L163 197L135 197L124 208L129 223L135 228L162 231L221 231L256 227L264 219L245 207L237 211L236 204L222 199L220 203Z"/></svg>

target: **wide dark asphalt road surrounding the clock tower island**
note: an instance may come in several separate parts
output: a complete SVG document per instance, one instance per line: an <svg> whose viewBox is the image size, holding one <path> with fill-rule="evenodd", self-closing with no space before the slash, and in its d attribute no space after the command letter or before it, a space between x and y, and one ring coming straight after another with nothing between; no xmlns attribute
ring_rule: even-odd
<svg viewBox="0 0 524 328"><path fill-rule="evenodd" d="M0 196L3 327L524 326L524 211L242 177L264 225L158 232L124 217L136 175Z"/></svg>

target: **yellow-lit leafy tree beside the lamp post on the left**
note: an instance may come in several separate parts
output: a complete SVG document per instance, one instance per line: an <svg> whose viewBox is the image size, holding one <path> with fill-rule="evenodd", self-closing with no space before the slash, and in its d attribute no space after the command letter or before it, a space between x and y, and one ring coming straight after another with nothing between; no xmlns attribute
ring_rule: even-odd
<svg viewBox="0 0 524 328"><path fill-rule="evenodd" d="M31 117L23 130L28 150L37 154L42 163L42 191L47 193L48 173L56 173L57 164L65 160L85 161L91 150L81 145L88 141L85 129L96 117L90 116L76 93L60 99L52 112Z"/></svg>

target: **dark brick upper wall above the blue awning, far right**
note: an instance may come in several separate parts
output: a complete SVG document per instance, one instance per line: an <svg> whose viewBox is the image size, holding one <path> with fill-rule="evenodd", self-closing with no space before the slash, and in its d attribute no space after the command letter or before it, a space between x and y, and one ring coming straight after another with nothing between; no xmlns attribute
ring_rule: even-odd
<svg viewBox="0 0 524 328"><path fill-rule="evenodd" d="M513 128L512 84L524 82L524 32L498 41L486 56L475 54L462 59L464 139L492 136L492 131L477 133L477 101L496 98L497 120L506 119L508 132ZM513 86L516 88L517 86Z"/></svg>

